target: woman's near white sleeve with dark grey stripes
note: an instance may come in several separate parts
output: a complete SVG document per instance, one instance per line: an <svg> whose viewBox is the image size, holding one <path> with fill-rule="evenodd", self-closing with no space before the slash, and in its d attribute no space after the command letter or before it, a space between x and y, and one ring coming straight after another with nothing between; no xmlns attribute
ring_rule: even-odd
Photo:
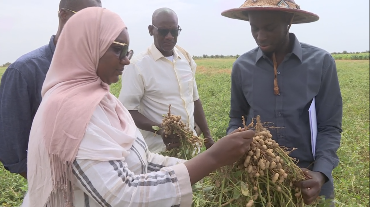
<svg viewBox="0 0 370 207"><path fill-rule="evenodd" d="M102 207L191 206L192 188L184 164L134 174L123 161L76 159L73 173L75 186Z"/></svg>

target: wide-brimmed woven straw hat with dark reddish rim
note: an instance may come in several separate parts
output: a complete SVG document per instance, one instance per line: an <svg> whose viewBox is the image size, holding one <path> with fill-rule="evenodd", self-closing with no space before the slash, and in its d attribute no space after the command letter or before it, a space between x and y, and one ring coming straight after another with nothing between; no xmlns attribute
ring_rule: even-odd
<svg viewBox="0 0 370 207"><path fill-rule="evenodd" d="M314 13L300 9L294 0L246 0L242 6L221 13L232 19L249 21L248 11L283 11L294 14L292 24L310 23L319 20Z"/></svg>

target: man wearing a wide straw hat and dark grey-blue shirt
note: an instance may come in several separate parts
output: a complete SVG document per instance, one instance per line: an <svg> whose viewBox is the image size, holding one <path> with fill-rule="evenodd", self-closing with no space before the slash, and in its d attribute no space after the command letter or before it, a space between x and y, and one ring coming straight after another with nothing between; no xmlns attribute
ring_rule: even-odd
<svg viewBox="0 0 370 207"><path fill-rule="evenodd" d="M301 10L293 0L247 0L222 16L249 21L258 44L233 64L227 133L242 126L242 116L249 123L260 115L263 122L277 127L272 134L281 146L297 148L290 155L311 178L296 183L305 203L318 196L332 200L343 106L336 64L327 51L301 43L289 33L292 24L319 17ZM316 111L316 118L310 118L309 110Z"/></svg>

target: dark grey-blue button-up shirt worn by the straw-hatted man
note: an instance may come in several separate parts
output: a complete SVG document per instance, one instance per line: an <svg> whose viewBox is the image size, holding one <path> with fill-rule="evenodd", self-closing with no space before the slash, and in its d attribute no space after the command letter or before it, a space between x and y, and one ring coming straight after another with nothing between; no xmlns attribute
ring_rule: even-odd
<svg viewBox="0 0 370 207"><path fill-rule="evenodd" d="M242 127L242 116L249 124L252 117L260 115L262 122L279 127L270 131L281 146L297 148L290 156L299 160L300 167L321 172L329 179L321 195L332 198L343 106L336 64L327 51L300 43L293 33L290 39L294 40L292 53L277 68L279 96L273 90L273 62L258 47L235 61L227 133ZM313 97L317 113L315 157L308 113Z"/></svg>

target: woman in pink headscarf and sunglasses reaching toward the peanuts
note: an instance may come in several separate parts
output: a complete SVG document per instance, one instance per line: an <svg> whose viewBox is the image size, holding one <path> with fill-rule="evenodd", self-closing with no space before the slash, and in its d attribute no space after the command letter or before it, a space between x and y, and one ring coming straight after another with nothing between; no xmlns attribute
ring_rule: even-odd
<svg viewBox="0 0 370 207"><path fill-rule="evenodd" d="M129 64L128 45L127 27L107 9L65 24L31 128L24 207L189 207L191 185L249 149L250 130L189 161L149 152L109 91Z"/></svg>

